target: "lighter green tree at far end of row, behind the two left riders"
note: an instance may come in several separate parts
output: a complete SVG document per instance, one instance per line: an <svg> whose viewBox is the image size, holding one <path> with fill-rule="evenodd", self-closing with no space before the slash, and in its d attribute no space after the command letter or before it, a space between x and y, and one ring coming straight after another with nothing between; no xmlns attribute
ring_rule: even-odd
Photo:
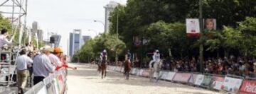
<svg viewBox="0 0 256 94"><path fill-rule="evenodd" d="M117 55L122 54L125 49L125 44L117 38L117 35L102 34L89 40L82 48L74 55L74 60L87 61L90 58L97 59L100 57L100 52L103 49L107 50L109 59L117 59Z"/></svg>

